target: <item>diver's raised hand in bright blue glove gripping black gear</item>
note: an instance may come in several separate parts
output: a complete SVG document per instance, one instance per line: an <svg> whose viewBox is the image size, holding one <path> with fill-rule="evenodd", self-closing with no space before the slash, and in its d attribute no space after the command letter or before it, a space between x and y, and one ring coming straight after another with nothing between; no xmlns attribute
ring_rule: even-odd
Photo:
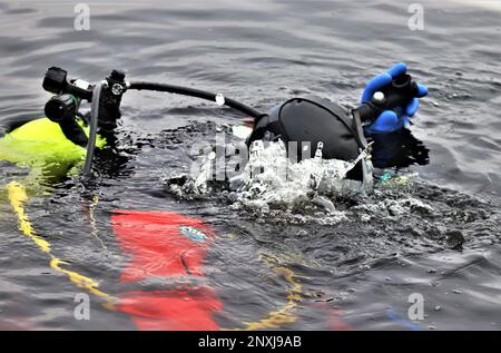
<svg viewBox="0 0 501 353"><path fill-rule="evenodd" d="M365 86L364 92L362 95L361 104L371 101L374 92L380 90L382 87L390 84L395 77L405 73L407 66L404 62L399 62L387 72L377 75L371 79ZM418 84L418 95L414 97L406 107L396 108L396 112L393 110L383 111L371 125L364 128L365 133L377 134L377 133L391 133L403 128L409 125L409 119L412 118L420 106L419 98L428 95L428 88L424 85Z"/></svg>

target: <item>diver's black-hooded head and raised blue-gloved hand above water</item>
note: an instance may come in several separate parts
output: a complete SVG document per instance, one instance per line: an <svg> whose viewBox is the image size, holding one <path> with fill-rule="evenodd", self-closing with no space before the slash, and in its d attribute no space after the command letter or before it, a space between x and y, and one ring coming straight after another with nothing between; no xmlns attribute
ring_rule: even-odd
<svg viewBox="0 0 501 353"><path fill-rule="evenodd" d="M321 146L322 158L350 161L367 148L370 139L377 147L374 154L377 156L376 167L402 167L402 147L409 145L407 138L409 141L411 139L410 134L405 138L401 131L409 131L404 128L418 111L419 98L428 95L428 88L414 82L406 70L406 65L400 62L374 77L365 86L360 107L351 115L325 99L292 98L275 107L269 115L258 117L247 143L279 138L288 146L288 156L294 156L294 160L313 157L314 149ZM410 145L420 146L419 143ZM426 163L426 150L407 148L406 151L421 155L415 159ZM346 177L372 185L372 163L362 159Z"/></svg>

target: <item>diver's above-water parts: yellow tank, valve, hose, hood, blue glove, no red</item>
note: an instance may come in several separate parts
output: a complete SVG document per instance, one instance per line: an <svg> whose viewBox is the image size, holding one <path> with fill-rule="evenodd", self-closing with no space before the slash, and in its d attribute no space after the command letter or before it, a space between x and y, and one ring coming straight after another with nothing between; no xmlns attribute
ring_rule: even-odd
<svg viewBox="0 0 501 353"><path fill-rule="evenodd" d="M419 98L428 94L426 87L416 84L406 70L405 63L401 62L370 80L358 107L351 112L328 100L304 97L288 99L269 114L263 114L220 94L164 84L129 82L125 73L118 70L92 85L81 79L70 80L65 70L52 67L43 80L43 88L56 95L46 105L47 118L17 127L0 139L0 160L18 164L29 159L30 163L37 160L43 164L45 158L52 158L58 159L53 160L57 166L66 166L59 171L67 171L71 165L85 158L82 174L88 175L96 147L99 149L108 145L111 147L109 150L119 143L115 129L121 117L121 98L127 90L137 89L197 97L242 111L253 118L247 146L258 140L281 139L288 148L288 157L296 160L313 157L321 144L324 159L353 161L362 151L371 149L369 139L375 141L376 147L391 149L373 151L380 165L391 166L391 156L399 156L402 165L405 158L399 153L402 151L402 144L399 138L395 143L395 136L406 139L405 134L399 131L406 131L404 127L410 125L410 119L416 114ZM79 112L82 100L91 104L87 115ZM386 140L394 143L385 144ZM414 146L419 147L419 144ZM421 154L418 158L407 158L410 161L425 163L426 150L406 150ZM370 159L363 158L347 177L371 184L372 170Z"/></svg>

